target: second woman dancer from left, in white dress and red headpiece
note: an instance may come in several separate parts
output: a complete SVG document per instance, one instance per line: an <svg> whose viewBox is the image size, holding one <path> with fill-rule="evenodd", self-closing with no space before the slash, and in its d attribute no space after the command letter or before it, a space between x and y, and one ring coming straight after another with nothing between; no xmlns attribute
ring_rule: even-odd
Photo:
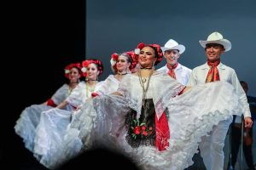
<svg viewBox="0 0 256 170"><path fill-rule="evenodd" d="M34 156L41 163L47 163L49 156L55 150L65 134L73 114L84 105L98 84L98 76L102 74L103 65L99 59L86 59L82 62L82 71L85 82L80 82L77 88L56 108L43 111L36 129L34 139ZM62 108L70 105L73 111L64 111Z"/></svg>

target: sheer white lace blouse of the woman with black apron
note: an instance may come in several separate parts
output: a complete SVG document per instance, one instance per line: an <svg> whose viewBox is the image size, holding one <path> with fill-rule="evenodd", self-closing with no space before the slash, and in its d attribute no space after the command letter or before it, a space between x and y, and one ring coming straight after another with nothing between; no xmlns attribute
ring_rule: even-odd
<svg viewBox="0 0 256 170"><path fill-rule="evenodd" d="M148 78L146 78L146 82L144 82L145 88L147 83ZM175 97L183 88L184 86L181 83L177 82L166 73L159 71L154 72L150 78L145 99L153 99L158 119L166 109L165 103L172 97ZM135 74L124 77L120 82L118 92L125 98L131 100L133 109L137 111L137 117L139 117L143 105L143 88L140 84L139 77Z"/></svg>

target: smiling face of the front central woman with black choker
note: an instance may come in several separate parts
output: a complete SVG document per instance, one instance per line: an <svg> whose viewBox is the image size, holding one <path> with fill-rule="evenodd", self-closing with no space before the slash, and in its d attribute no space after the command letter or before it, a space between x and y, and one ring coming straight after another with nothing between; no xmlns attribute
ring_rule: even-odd
<svg viewBox="0 0 256 170"><path fill-rule="evenodd" d="M144 47L140 50L138 56L139 64L144 68L151 68L156 61L154 49L151 47Z"/></svg>

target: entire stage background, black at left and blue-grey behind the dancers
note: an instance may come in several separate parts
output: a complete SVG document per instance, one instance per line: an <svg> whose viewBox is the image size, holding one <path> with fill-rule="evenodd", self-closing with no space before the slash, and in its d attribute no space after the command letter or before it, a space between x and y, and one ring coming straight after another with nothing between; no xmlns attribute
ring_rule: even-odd
<svg viewBox="0 0 256 170"><path fill-rule="evenodd" d="M246 78L253 76L249 73L254 71L255 65L255 2L251 0L249 3L241 3L236 0L236 3L224 1L223 4L218 1L206 4L202 0L199 0L200 3L166 1L172 3L170 5L163 2L134 1L131 4L130 1L117 0L88 0L87 3L37 1L11 2L3 6L8 10L3 13L6 23L2 23L6 28L2 33L7 38L3 40L2 48L5 53L1 58L1 97L4 102L0 119L0 169L45 169L15 134L15 121L27 106L43 103L54 94L66 81L63 74L65 65L83 60L85 54L89 57L99 57L104 62L105 71L100 77L102 80L112 73L109 59L113 52L131 50L140 41L164 44L169 38L174 38L184 45L193 45L190 48L192 51L188 50L183 54L181 63L194 68L205 62L205 58L201 58L204 55L198 40L207 38L208 33L217 29L224 32L228 39L234 40L234 50L226 54L224 60L230 59L227 65L234 67L243 80L251 81L249 95L252 95L251 102L255 105L255 77ZM145 8L145 5L150 8ZM214 13L206 13L208 5ZM213 21L219 23L217 27L211 20L215 17L216 20ZM152 20L157 29L148 29ZM204 25L211 23L201 26L201 20ZM177 25L173 27L165 24ZM194 27L191 29L189 26ZM124 33L125 29L127 31ZM150 36L142 33L145 30ZM141 36L138 37L137 33ZM191 37L191 42L187 42L188 37ZM241 64L241 61L244 63ZM3 69L4 66L7 68Z"/></svg>

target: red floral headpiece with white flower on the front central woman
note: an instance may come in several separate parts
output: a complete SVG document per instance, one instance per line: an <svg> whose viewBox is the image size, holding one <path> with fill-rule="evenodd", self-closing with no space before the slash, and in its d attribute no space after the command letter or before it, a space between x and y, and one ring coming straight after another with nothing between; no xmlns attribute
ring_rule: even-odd
<svg viewBox="0 0 256 170"><path fill-rule="evenodd" d="M154 49L155 52L155 57L157 58L154 65L157 65L161 62L161 60L163 59L163 52L161 50L160 45L153 43L153 44L145 44L143 42L140 42L139 44L137 44L137 48L134 50L135 54L139 54L140 50L144 47L151 47Z"/></svg>

